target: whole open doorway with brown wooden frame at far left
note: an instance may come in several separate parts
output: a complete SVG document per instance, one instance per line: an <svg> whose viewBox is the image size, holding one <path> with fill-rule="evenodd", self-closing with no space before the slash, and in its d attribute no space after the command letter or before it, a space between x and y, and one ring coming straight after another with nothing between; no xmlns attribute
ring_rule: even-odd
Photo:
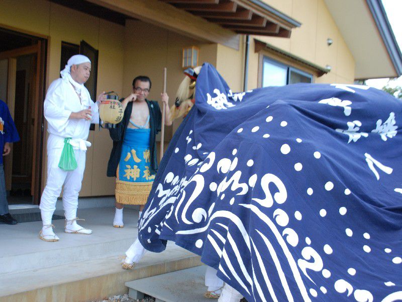
<svg viewBox="0 0 402 302"><path fill-rule="evenodd" d="M21 140L4 158L9 204L38 204L42 168L46 40L0 28L0 99Z"/></svg>

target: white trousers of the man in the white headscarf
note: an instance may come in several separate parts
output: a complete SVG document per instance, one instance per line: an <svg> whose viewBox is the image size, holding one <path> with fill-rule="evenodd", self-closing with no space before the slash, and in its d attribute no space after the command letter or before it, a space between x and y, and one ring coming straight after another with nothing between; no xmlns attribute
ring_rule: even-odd
<svg viewBox="0 0 402 302"><path fill-rule="evenodd" d="M63 208L66 219L72 220L77 216L78 194L81 190L82 178L85 170L86 151L74 150L77 168L73 171L61 170L58 165L63 148L47 145L47 181L43 190L41 209L43 224L51 224L53 212L56 209L56 201L63 191Z"/></svg>

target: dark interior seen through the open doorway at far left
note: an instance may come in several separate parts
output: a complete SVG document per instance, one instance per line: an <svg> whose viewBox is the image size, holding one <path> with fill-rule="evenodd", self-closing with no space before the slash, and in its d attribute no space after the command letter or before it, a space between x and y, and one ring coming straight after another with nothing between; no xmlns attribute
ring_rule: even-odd
<svg viewBox="0 0 402 302"><path fill-rule="evenodd" d="M0 28L0 52L36 43L38 43L38 38ZM20 141L13 144L11 188L8 188L10 189L8 191L9 204L31 204L33 202L31 186L36 56L36 54L28 54L17 57L15 109L12 114Z"/></svg>

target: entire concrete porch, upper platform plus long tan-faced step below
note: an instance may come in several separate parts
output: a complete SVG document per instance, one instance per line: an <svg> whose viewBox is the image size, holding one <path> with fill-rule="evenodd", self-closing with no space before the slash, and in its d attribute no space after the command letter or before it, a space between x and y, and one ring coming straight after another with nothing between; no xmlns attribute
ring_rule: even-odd
<svg viewBox="0 0 402 302"><path fill-rule="evenodd" d="M63 214L56 212L56 214ZM134 270L121 257L137 238L138 211L124 210L125 227L113 228L114 207L81 209L80 224L92 235L64 233L54 220L59 242L44 242L42 222L0 225L0 301L86 301L128 292L124 282L200 265L199 257L169 243L165 252L147 252Z"/></svg>

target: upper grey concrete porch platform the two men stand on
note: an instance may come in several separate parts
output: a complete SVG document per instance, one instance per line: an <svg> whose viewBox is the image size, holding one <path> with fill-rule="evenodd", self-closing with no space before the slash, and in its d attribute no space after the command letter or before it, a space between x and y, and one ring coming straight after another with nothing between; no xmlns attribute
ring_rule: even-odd
<svg viewBox="0 0 402 302"><path fill-rule="evenodd" d="M62 212L55 212L62 214ZM81 209L82 226L92 229L92 235L64 233L64 220L53 220L58 242L39 239L41 221L0 226L0 272L13 273L43 269L91 259L124 255L138 229L138 211L124 210L125 227L113 228L114 208Z"/></svg>

